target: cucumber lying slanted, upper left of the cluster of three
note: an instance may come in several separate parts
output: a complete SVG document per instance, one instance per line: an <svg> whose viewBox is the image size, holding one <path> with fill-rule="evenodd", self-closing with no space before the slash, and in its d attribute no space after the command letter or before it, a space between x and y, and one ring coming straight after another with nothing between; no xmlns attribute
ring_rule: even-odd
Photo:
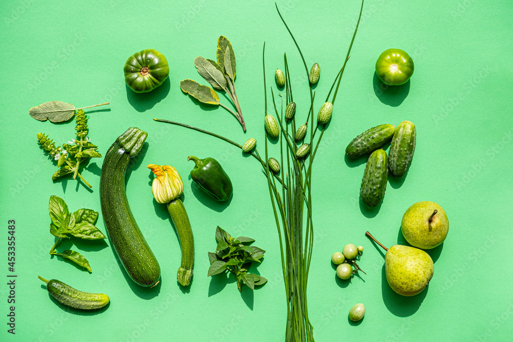
<svg viewBox="0 0 513 342"><path fill-rule="evenodd" d="M347 156L358 158L382 147L392 138L394 131L394 126L390 124L379 125L366 130L347 145Z"/></svg>

